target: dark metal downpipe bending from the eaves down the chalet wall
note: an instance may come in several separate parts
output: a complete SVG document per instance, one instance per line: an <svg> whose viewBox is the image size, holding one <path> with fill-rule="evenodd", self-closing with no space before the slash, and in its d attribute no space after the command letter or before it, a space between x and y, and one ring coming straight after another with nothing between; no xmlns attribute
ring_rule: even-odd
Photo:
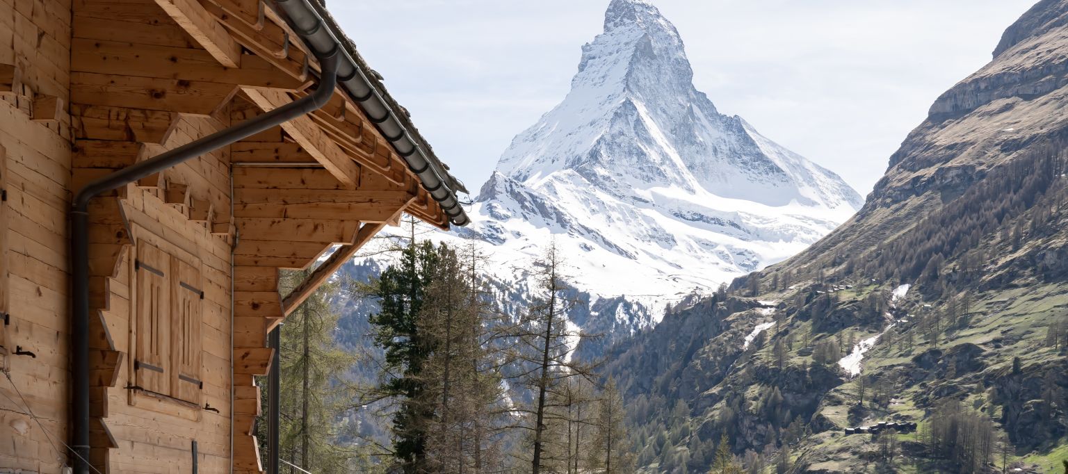
<svg viewBox="0 0 1068 474"><path fill-rule="evenodd" d="M315 92L233 127L219 130L154 158L138 162L95 179L75 196L70 207L70 377L72 446L75 474L89 474L89 203L105 192L152 176L198 156L214 152L245 138L278 126L330 101L337 84L341 47L316 51L323 73Z"/></svg>

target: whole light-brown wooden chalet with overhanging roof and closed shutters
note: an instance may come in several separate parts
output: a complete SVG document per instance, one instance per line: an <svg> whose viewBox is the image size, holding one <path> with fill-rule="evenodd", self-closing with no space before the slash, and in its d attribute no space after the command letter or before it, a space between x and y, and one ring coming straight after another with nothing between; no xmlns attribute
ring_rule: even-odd
<svg viewBox="0 0 1068 474"><path fill-rule="evenodd" d="M467 223L320 1L0 0L0 473L262 472L268 331Z"/></svg>

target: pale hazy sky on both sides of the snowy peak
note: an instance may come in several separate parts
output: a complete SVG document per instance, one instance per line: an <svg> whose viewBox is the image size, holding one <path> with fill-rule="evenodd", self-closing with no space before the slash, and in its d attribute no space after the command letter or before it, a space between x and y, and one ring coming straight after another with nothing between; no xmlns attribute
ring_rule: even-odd
<svg viewBox="0 0 1068 474"><path fill-rule="evenodd" d="M1035 0L654 0L722 113L866 195L945 90ZM472 195L564 98L608 0L333 0L330 11Z"/></svg>

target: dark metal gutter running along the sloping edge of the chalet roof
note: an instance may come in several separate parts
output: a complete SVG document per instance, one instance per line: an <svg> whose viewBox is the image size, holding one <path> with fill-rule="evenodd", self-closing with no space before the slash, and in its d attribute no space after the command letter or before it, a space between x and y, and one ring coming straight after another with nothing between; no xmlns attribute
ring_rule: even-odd
<svg viewBox="0 0 1068 474"><path fill-rule="evenodd" d="M395 104L391 106L392 100L381 88L368 79L371 75L355 58L355 49L349 50L351 44L336 23L327 19L329 14L326 10L316 0L274 0L274 4L312 52L317 54L334 49L341 51L337 81L419 176L423 187L449 216L449 221L461 226L470 223L456 196L457 190L461 190L464 185L449 174L444 164L419 137L419 132L405 126L407 120L400 118L393 108Z"/></svg>

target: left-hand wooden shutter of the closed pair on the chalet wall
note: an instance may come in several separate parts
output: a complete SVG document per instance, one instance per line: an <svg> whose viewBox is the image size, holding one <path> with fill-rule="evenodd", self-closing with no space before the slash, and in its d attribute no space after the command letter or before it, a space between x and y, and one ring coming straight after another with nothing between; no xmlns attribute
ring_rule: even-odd
<svg viewBox="0 0 1068 474"><path fill-rule="evenodd" d="M139 240L137 273L137 347L134 359L136 384L157 394L170 394L171 374L171 258Z"/></svg>

